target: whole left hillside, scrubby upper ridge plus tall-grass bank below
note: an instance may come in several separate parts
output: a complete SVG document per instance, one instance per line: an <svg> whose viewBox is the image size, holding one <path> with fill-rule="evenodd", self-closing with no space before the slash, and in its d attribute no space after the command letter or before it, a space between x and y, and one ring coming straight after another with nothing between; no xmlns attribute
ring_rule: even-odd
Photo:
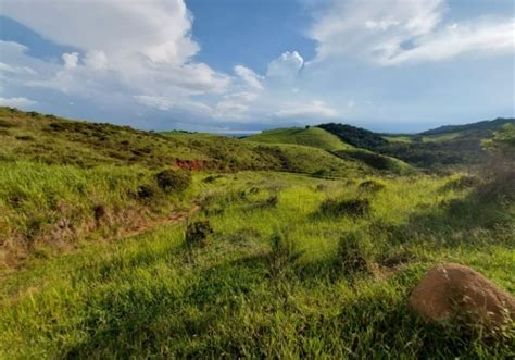
<svg viewBox="0 0 515 360"><path fill-rule="evenodd" d="M322 149L206 134L166 135L0 109L0 268L32 253L110 237L184 208L164 194L165 169L284 171L324 177L372 173Z"/></svg>

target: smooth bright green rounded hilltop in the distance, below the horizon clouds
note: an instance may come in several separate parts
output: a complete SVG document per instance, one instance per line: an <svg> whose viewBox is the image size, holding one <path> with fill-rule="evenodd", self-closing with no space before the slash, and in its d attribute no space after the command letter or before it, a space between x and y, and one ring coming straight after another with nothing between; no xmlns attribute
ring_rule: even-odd
<svg viewBox="0 0 515 360"><path fill-rule="evenodd" d="M265 144L296 144L323 150L343 150L351 148L337 136L319 127L276 128L262 132L246 139Z"/></svg>

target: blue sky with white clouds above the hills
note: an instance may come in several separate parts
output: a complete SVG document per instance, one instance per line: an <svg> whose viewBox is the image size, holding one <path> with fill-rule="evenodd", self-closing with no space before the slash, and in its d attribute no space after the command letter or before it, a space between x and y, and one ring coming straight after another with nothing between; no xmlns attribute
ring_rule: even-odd
<svg viewBox="0 0 515 360"><path fill-rule="evenodd" d="M0 105L238 134L515 117L515 1L2 0Z"/></svg>

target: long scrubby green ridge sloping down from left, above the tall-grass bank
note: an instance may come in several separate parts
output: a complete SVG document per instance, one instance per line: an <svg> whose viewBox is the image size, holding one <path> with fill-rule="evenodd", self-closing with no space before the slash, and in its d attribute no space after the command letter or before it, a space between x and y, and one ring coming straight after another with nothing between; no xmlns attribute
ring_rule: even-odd
<svg viewBox="0 0 515 360"><path fill-rule="evenodd" d="M316 132L316 131L315 131ZM330 135L330 134L327 134ZM93 167L284 171L324 176L370 173L360 161L294 144L260 144L226 136L143 132L0 108L0 161L39 161Z"/></svg>

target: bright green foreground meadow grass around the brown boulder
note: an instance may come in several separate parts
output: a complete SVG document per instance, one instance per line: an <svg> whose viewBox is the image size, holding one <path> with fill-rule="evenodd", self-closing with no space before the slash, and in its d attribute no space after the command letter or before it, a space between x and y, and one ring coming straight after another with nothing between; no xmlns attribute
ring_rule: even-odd
<svg viewBox="0 0 515 360"><path fill-rule="evenodd" d="M418 175L381 179L367 218L314 218L326 199L355 197L359 184L256 172L203 177L196 219L214 231L206 246L186 246L185 225L167 225L34 258L3 280L0 357L505 358L513 350L513 338L429 325L406 307L438 262L472 265L513 293L513 207L454 213L442 203L475 201L472 190L442 193L452 178ZM253 206L271 195L275 206ZM289 245L274 243L277 231ZM352 282L337 264L346 234L368 244L375 269Z"/></svg>

